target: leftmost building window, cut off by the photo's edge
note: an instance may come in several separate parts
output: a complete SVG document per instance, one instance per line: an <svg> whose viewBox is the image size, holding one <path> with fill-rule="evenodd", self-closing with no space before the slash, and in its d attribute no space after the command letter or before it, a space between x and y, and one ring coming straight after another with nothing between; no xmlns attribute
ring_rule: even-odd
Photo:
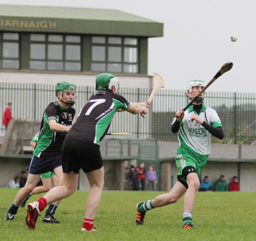
<svg viewBox="0 0 256 241"><path fill-rule="evenodd" d="M0 68L19 69L19 34L0 34Z"/></svg>

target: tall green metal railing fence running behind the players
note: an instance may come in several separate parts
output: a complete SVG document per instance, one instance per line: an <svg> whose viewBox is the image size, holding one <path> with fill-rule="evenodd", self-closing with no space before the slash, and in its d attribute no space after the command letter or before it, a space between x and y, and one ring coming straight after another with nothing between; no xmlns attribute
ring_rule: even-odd
<svg viewBox="0 0 256 241"><path fill-rule="evenodd" d="M75 104L78 114L90 95L92 86L77 86L78 98ZM146 102L150 89L122 88L121 94L129 102ZM55 86L46 84L0 83L0 118L7 102L13 103L13 117L22 119L42 119L49 102L56 101ZM175 112L188 102L183 90L161 89L155 96L146 118L131 115L126 111L115 114L110 132L131 132L133 138L155 138L158 140L177 140L171 132L171 122ZM205 105L213 107L221 118L225 138L213 142L245 143L255 142L256 111L255 93L208 92ZM76 115L77 115L76 114ZM4 134L1 121L0 134Z"/></svg>

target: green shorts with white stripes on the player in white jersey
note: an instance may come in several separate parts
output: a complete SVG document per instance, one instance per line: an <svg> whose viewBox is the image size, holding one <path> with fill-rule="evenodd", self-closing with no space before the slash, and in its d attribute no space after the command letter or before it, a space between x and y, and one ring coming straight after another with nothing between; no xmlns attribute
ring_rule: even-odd
<svg viewBox="0 0 256 241"><path fill-rule="evenodd" d="M183 181L185 181L186 183L187 183L187 181L186 181L187 178L184 178L182 176L183 168L188 167L188 166L194 167L196 169L197 176L200 176L201 172L204 169L204 166L197 165L197 160L193 159L192 156L183 156L182 154L177 154L175 161L176 161L177 168L179 168L179 170L180 170L179 173L177 174L177 178L178 179L182 178Z"/></svg>

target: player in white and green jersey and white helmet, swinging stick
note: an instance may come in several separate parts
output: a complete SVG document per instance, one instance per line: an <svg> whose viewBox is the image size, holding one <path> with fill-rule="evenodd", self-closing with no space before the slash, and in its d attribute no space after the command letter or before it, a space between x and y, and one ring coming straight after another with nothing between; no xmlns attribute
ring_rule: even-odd
<svg viewBox="0 0 256 241"><path fill-rule="evenodd" d="M204 81L189 81L189 100L192 101L204 86ZM137 204L137 225L143 225L146 211L174 203L185 193L183 228L196 228L192 225L192 211L200 187L199 176L210 154L210 135L224 138L220 118L214 109L204 105L204 95L205 93L201 94L187 110L176 112L172 121L172 132L178 133L179 138L176 156L176 165L179 168L177 182L169 193Z"/></svg>

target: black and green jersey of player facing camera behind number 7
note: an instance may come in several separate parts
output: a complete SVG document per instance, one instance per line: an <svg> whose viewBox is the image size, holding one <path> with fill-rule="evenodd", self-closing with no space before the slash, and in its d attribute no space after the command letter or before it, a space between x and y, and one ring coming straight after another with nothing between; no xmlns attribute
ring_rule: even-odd
<svg viewBox="0 0 256 241"><path fill-rule="evenodd" d="M55 119L57 123L71 127L74 117L75 109L73 107L65 109L57 101L49 103L46 110L44 110L33 155L44 159L61 156L61 148L67 133L52 131L49 127L49 121Z"/></svg>

